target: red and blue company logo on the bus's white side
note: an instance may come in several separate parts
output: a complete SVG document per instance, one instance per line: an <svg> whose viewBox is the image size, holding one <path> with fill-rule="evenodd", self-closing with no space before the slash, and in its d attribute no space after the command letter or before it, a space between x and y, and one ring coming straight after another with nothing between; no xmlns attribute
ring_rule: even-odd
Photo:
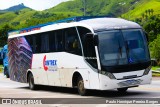
<svg viewBox="0 0 160 107"><path fill-rule="evenodd" d="M46 60L46 55L43 58L43 68L45 71L57 71L57 60Z"/></svg>

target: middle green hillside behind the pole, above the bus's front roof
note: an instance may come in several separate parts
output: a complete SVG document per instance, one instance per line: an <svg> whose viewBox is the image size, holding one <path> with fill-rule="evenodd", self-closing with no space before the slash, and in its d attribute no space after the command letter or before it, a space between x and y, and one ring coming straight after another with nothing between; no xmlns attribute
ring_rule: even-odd
<svg viewBox="0 0 160 107"><path fill-rule="evenodd" d="M76 12L83 15L84 7L86 7L86 15L106 15L117 17L127 12L127 9L140 0L71 0L55 6L47 11L51 12Z"/></svg>

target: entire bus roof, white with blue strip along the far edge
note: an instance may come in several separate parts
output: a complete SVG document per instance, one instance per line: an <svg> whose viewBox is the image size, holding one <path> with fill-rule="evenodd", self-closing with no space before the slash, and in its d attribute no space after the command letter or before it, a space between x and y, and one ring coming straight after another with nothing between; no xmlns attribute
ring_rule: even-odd
<svg viewBox="0 0 160 107"><path fill-rule="evenodd" d="M59 20L56 22L50 22L46 24L40 24L21 30L9 32L9 38L18 36L25 36L30 34L36 34L40 32L46 32L51 30L58 30L63 28L69 28L74 26L82 26L90 29L92 32L98 32L110 29L130 29L141 28L135 22L127 21L121 18L107 18L107 17L74 17ZM11 36L12 35L12 36Z"/></svg>

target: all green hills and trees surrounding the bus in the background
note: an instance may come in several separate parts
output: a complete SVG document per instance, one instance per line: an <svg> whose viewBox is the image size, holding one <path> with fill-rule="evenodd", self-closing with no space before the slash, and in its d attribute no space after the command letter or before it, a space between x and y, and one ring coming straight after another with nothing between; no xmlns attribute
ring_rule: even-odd
<svg viewBox="0 0 160 107"><path fill-rule="evenodd" d="M70 0L44 11L23 8L0 11L0 47L7 43L7 32L73 16L104 15L122 17L143 26L149 34L151 57L160 65L160 0ZM155 5L156 4L156 5ZM19 5L25 7L23 4ZM16 6L14 8L17 8ZM11 9L11 8L10 8Z"/></svg>

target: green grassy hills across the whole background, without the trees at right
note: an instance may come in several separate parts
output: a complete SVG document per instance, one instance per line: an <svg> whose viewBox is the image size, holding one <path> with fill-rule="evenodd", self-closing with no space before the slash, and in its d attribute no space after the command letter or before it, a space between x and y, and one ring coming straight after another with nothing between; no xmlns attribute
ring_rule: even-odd
<svg viewBox="0 0 160 107"><path fill-rule="evenodd" d="M141 18L142 14L145 15L145 11L148 9L153 9L153 14L160 14L160 0L85 1L87 16L104 15L134 20L136 18ZM17 7L19 7L19 11L14 11ZM21 9L20 7L23 8ZM32 10L23 4L10 7L7 10L8 12L0 12L0 29L6 24L12 26L13 29L21 29L67 17L82 16L84 14L84 2L82 0L70 0L44 11Z"/></svg>

